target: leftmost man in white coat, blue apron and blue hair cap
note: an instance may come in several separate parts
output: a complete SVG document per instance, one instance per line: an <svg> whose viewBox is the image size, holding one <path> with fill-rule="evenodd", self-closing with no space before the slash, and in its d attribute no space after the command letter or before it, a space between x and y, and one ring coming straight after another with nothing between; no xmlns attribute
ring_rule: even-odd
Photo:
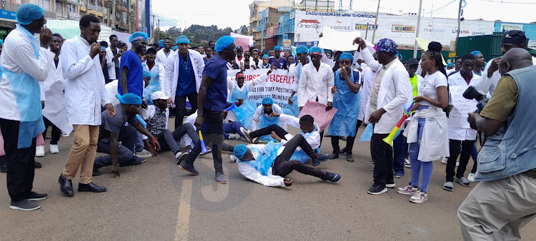
<svg viewBox="0 0 536 241"><path fill-rule="evenodd" d="M51 31L41 31L46 19L43 9L35 4L24 4L16 12L16 29L4 41L0 65L4 73L0 81L0 128L6 142L7 191L14 210L37 210L34 201L46 194L32 191L36 135L44 130L41 116L39 82L48 75L46 58L39 57L39 40L48 43Z"/></svg>

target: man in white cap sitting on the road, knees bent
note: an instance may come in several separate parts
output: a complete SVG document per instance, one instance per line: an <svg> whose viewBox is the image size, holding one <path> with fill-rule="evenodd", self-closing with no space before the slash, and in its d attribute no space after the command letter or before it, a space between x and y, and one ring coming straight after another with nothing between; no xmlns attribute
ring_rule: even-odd
<svg viewBox="0 0 536 241"><path fill-rule="evenodd" d="M177 158L177 164L187 158L188 152L182 153L179 149L178 142L181 141L183 135L188 135L194 141L199 140L199 135L194 129L193 125L187 123L181 125L175 129L173 133L167 128L169 109L167 108L167 97L162 91L155 91L151 95L152 105L147 107L147 130L160 140L161 150L172 150L175 158ZM144 140L148 144L149 152L157 155L157 151L154 147L148 143L147 136L144 136Z"/></svg>

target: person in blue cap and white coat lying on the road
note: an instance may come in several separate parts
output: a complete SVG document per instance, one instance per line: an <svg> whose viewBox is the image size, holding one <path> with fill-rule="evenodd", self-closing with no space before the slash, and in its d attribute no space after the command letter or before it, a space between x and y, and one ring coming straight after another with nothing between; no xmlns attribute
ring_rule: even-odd
<svg viewBox="0 0 536 241"><path fill-rule="evenodd" d="M284 145L273 142L267 145L239 144L234 148L233 153L238 158L238 170L244 177L270 187L292 185L291 179L284 178L292 173L292 170L332 182L337 182L341 178L337 173L329 173L311 168L298 160L290 160L294 150L298 147L302 148L313 160L318 161L317 159L321 158L301 134L294 136Z"/></svg>

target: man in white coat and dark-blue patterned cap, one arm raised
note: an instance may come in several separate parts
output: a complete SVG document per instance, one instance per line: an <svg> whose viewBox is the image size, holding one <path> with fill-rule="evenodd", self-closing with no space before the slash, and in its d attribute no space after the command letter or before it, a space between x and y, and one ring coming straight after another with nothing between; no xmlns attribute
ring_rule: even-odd
<svg viewBox="0 0 536 241"><path fill-rule="evenodd" d="M396 57L397 43L391 39L380 39L377 43L377 61L361 38L354 43L359 44L359 51L365 63L377 71L374 85L369 98L367 112L369 122L374 125L374 134L370 140L370 153L374 160L374 185L367 193L378 195L394 188L393 150L392 146L382 139L386 138L397 125L404 113L404 105L411 103L412 86L410 75L404 65Z"/></svg>

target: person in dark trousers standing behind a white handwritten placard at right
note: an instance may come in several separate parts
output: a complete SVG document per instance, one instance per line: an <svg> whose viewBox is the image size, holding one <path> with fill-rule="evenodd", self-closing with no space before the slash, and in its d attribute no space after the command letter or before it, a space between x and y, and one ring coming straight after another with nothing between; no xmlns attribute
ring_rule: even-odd
<svg viewBox="0 0 536 241"><path fill-rule="evenodd" d="M471 53L465 53L462 56L462 69L458 73L449 76L449 86L464 86L468 88L477 83L480 76L473 74L475 68L475 56ZM452 108L452 105L450 105ZM467 178L465 178L465 168L471 157L472 148L475 146L475 140L477 139L477 131L471 128L462 128L449 125L449 149L450 157L447 160L447 181L443 185L443 189L447 191L454 191L454 185L452 182L460 183L464 187L469 187L471 184ZM456 168L456 160L460 155L460 165Z"/></svg>

